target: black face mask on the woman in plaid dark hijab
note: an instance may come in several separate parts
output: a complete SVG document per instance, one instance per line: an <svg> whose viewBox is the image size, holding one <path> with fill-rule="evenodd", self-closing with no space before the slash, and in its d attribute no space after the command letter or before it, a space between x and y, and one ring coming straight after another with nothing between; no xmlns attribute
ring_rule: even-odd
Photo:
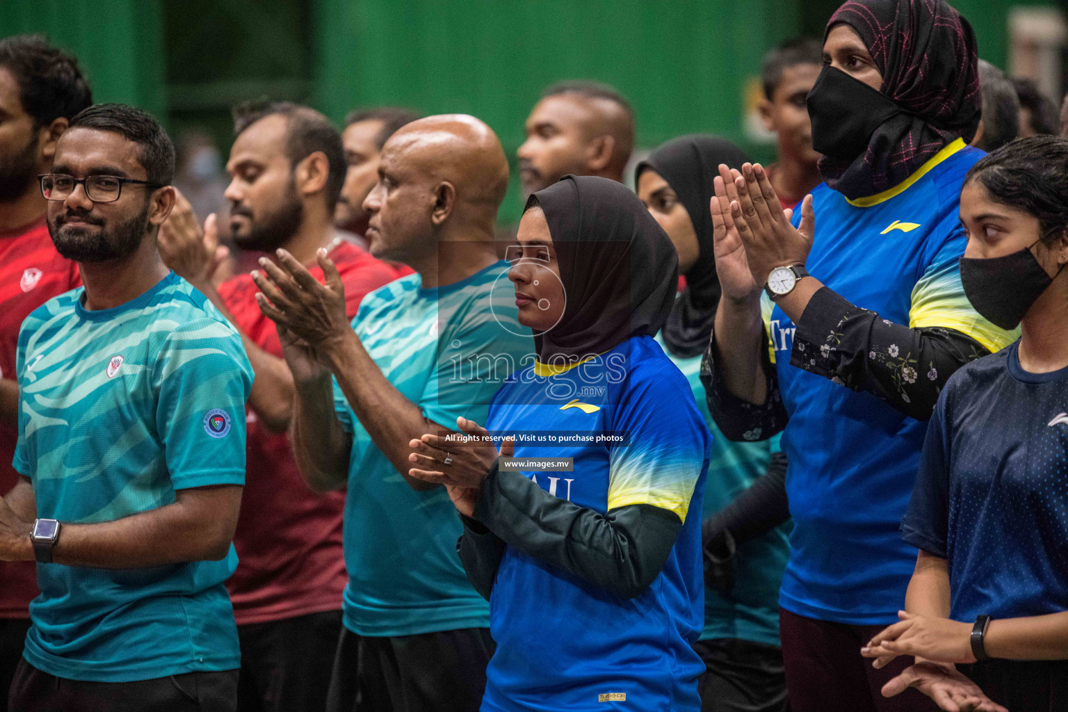
<svg viewBox="0 0 1068 712"><path fill-rule="evenodd" d="M812 147L834 160L851 161L875 130L904 109L882 92L830 65L808 92Z"/></svg>

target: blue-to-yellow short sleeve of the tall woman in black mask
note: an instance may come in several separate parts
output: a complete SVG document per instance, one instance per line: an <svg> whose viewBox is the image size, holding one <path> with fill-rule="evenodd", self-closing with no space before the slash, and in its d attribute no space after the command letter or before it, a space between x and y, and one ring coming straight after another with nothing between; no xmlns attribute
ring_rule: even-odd
<svg viewBox="0 0 1068 712"><path fill-rule="evenodd" d="M938 234L944 237L937 241L933 255L912 289L909 328L953 329L983 344L991 353L1000 351L1019 337L1019 329L1009 332L990 323L964 296L960 257L968 238L955 212L943 219Z"/></svg>

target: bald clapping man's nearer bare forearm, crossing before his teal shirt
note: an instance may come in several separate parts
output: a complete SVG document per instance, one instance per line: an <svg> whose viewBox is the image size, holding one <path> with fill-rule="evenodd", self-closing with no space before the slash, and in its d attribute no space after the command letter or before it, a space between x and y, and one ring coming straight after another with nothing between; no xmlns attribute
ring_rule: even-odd
<svg viewBox="0 0 1068 712"><path fill-rule="evenodd" d="M337 385L367 434L405 480L415 490L437 487L408 475L411 462L408 442L441 426L423 417L415 404L408 400L382 375L355 331L327 351Z"/></svg>

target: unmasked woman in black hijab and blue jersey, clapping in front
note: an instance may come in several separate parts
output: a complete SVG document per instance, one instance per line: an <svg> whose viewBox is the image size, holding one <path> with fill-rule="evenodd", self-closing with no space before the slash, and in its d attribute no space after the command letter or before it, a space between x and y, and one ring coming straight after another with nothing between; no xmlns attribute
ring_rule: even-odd
<svg viewBox="0 0 1068 712"><path fill-rule="evenodd" d="M460 558L490 602L482 709L696 712L710 437L653 338L675 250L633 193L598 177L535 193L517 239L508 276L538 354L486 424L517 462L434 434L410 457L412 476L447 487Z"/></svg>

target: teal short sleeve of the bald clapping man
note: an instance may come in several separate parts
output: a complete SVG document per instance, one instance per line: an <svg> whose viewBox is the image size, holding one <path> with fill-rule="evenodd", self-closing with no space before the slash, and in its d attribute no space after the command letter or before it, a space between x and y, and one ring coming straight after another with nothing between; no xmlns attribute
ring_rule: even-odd
<svg viewBox="0 0 1068 712"><path fill-rule="evenodd" d="M534 342L504 329L491 314L469 316L450 336L438 341L437 358L415 405L443 428L455 429L460 416L485 425L490 400L524 365Z"/></svg>

